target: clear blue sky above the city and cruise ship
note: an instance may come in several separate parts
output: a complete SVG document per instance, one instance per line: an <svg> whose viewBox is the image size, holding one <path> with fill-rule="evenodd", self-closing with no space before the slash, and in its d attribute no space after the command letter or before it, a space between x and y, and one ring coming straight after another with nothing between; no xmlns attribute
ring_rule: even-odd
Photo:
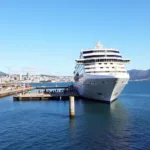
<svg viewBox="0 0 150 150"><path fill-rule="evenodd" d="M150 68L149 0L0 2L0 71L73 75L80 50L98 40Z"/></svg>

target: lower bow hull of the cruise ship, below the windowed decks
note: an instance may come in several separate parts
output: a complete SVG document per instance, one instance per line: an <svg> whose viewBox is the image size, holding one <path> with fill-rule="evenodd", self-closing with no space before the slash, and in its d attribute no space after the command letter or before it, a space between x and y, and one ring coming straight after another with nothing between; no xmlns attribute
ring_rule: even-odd
<svg viewBox="0 0 150 150"><path fill-rule="evenodd" d="M80 96L111 103L116 100L129 81L128 74L87 75L85 74L75 87Z"/></svg>

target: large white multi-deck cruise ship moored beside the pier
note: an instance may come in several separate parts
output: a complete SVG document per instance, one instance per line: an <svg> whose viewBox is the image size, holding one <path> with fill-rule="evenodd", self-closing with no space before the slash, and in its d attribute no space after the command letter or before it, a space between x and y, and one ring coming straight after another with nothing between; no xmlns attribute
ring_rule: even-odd
<svg viewBox="0 0 150 150"><path fill-rule="evenodd" d="M128 84L129 74L119 50L104 48L98 41L95 48L82 50L76 60L75 88L80 96L111 103Z"/></svg>

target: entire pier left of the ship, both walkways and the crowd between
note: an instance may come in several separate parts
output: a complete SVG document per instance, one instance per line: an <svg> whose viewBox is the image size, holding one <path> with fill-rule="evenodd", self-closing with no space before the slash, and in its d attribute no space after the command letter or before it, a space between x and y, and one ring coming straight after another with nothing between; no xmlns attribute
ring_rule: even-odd
<svg viewBox="0 0 150 150"><path fill-rule="evenodd" d="M38 93L28 92L35 89L39 90ZM70 96L79 97L73 86L10 87L0 91L0 98L10 95L15 95L14 100L69 100Z"/></svg>

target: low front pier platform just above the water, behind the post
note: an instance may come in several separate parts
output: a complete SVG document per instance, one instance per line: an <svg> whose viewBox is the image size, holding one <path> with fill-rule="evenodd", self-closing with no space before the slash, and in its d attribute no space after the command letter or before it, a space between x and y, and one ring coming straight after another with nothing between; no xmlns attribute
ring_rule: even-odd
<svg viewBox="0 0 150 150"><path fill-rule="evenodd" d="M26 93L15 95L14 101L69 100L70 96L73 96L75 99L79 98L79 95L75 92L60 92L55 94Z"/></svg>

